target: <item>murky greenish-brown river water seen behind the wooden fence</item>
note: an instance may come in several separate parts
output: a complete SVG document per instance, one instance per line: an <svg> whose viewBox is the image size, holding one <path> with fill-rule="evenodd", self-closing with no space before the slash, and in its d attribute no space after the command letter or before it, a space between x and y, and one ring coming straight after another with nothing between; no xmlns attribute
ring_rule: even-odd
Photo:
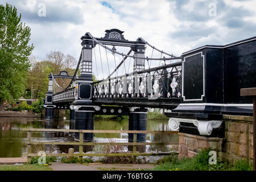
<svg viewBox="0 0 256 182"><path fill-rule="evenodd" d="M95 119L95 130L128 130L128 119ZM0 117L0 158L20 157L27 152L27 131L20 131L22 128L52 128L69 129L69 121L55 120L44 121L40 118L10 118ZM157 120L147 121L148 131L170 131L168 121ZM147 134L146 142L175 142L178 143L177 134ZM75 142L72 134L64 132L32 132L32 141L48 142ZM128 142L127 134L98 133L94 135L94 142ZM84 152L102 152L102 146L84 146ZM63 145L32 145L32 153L40 150L47 152L65 152L68 148L79 150L79 146ZM173 146L146 146L143 152L168 152ZM127 150L127 148L124 148Z"/></svg>

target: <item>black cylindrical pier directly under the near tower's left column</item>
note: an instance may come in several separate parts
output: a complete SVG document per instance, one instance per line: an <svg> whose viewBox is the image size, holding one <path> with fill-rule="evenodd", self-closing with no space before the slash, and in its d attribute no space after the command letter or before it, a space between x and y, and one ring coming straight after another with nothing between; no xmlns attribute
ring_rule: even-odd
<svg viewBox="0 0 256 182"><path fill-rule="evenodd" d="M94 111L76 110L76 130L93 130L94 129ZM79 133L75 133L75 139L79 140ZM92 142L93 133L84 133L84 142Z"/></svg>

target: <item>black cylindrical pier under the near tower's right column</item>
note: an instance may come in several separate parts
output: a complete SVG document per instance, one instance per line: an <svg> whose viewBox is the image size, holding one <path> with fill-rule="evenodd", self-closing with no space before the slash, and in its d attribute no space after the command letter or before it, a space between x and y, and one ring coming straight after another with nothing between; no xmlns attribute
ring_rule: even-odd
<svg viewBox="0 0 256 182"><path fill-rule="evenodd" d="M147 130L147 109L136 109L129 115L129 130ZM129 142L133 142L133 133L128 134ZM137 142L145 142L146 134L137 134Z"/></svg>

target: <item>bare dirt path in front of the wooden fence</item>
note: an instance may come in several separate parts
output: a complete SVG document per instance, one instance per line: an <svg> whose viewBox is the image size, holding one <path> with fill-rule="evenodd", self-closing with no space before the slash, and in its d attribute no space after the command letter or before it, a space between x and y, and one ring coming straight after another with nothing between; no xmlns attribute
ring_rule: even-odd
<svg viewBox="0 0 256 182"><path fill-rule="evenodd" d="M131 171L133 169L152 169L153 164L65 164L51 163L53 171Z"/></svg>

